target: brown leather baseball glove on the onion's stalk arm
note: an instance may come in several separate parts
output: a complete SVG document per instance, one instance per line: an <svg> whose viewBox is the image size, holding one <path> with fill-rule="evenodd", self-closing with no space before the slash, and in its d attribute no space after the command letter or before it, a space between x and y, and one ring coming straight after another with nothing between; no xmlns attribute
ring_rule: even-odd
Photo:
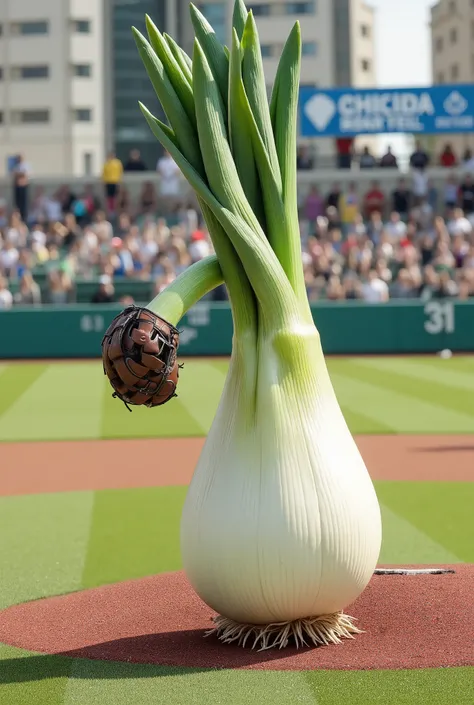
<svg viewBox="0 0 474 705"><path fill-rule="evenodd" d="M128 306L102 339L104 373L114 394L129 404L160 406L176 396L179 332L153 311Z"/></svg>

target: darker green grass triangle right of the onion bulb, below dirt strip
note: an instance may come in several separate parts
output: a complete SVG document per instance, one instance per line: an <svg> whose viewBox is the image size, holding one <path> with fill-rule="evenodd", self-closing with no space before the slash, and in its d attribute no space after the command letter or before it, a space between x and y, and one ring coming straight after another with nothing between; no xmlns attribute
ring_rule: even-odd
<svg viewBox="0 0 474 705"><path fill-rule="evenodd" d="M474 563L473 482L379 482L377 494L412 527L459 560Z"/></svg>

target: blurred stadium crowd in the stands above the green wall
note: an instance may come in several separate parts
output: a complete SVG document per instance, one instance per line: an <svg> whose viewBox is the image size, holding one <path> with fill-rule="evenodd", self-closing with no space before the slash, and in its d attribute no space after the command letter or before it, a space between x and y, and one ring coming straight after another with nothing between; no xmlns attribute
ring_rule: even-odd
<svg viewBox="0 0 474 705"><path fill-rule="evenodd" d="M137 151L129 161L128 170L143 171ZM65 185L54 194L38 187L29 204L20 193L11 212L1 200L0 309L73 302L81 280L97 282L91 303L130 303L129 295L117 297L118 281L150 281L158 293L209 255L200 214L179 197L176 164L164 155L157 168L160 189L145 181L135 202L121 185L123 166L114 155L104 166L100 194L88 186L73 193ZM26 166L22 174L28 186ZM21 187L15 182L15 188ZM458 182L448 173L442 190L416 168L392 193L376 181L365 192L356 183L334 184L328 193L313 186L301 198L300 228L311 301L474 297L469 174ZM211 296L225 298L224 287Z"/></svg>

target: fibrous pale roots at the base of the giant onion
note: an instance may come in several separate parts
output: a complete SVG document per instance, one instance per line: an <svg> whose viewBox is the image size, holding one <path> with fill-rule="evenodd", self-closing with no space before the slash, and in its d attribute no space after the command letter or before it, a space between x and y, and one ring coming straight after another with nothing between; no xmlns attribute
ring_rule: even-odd
<svg viewBox="0 0 474 705"><path fill-rule="evenodd" d="M212 621L214 627L206 632L206 636L214 634L226 644L236 642L242 647L248 643L252 649L259 647L258 651L284 649L288 645L295 645L297 649L329 646L340 644L342 639L353 639L354 634L362 634L354 624L355 618L343 612L266 625L240 624L221 615Z"/></svg>

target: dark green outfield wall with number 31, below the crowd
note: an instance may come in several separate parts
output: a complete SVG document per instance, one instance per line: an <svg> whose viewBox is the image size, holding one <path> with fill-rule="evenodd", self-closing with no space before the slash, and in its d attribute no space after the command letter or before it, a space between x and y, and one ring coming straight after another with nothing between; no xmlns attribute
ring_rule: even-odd
<svg viewBox="0 0 474 705"><path fill-rule="evenodd" d="M15 308L0 313L0 359L100 356L102 336L120 306ZM474 352L474 301L393 301L313 305L326 354L402 354L449 348ZM228 355L227 303L200 303L179 325L181 355Z"/></svg>

